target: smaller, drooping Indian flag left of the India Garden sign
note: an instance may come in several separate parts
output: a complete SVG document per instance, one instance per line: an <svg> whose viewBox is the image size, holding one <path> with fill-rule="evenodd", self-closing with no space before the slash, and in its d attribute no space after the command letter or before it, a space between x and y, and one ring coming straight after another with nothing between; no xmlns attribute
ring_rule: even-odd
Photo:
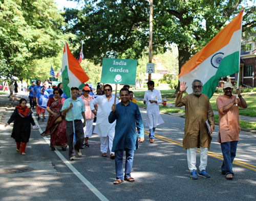
<svg viewBox="0 0 256 201"><path fill-rule="evenodd" d="M84 82L89 80L76 58L71 53L67 42L62 56L62 87L63 92L70 98L70 88L78 87L82 90Z"/></svg>

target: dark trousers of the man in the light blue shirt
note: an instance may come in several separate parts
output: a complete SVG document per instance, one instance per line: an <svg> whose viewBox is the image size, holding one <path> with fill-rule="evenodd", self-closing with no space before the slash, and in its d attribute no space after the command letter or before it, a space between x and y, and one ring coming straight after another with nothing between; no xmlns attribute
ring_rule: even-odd
<svg viewBox="0 0 256 201"><path fill-rule="evenodd" d="M75 133L76 133L76 144L74 147L77 151L79 151L82 146L82 140L83 140L83 123L81 120L75 121L74 123L75 123ZM69 144L69 158L71 158L75 156L75 150L73 148L74 130L73 130L72 121L67 121L66 133L67 133L67 140Z"/></svg>

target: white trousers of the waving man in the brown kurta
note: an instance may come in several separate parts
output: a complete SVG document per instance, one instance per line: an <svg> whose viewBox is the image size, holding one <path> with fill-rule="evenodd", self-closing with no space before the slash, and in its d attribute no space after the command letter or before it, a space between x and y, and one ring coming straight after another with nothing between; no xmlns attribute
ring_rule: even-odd
<svg viewBox="0 0 256 201"><path fill-rule="evenodd" d="M207 157L208 157L208 147L200 146L200 166L199 170L205 170L207 166ZM197 170L197 147L187 149L187 165L188 169Z"/></svg>

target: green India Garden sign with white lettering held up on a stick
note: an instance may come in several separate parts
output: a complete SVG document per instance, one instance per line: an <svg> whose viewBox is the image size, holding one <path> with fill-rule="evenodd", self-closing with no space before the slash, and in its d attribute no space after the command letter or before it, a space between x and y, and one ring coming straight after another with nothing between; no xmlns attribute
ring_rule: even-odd
<svg viewBox="0 0 256 201"><path fill-rule="evenodd" d="M101 83L135 85L136 59L103 58Z"/></svg>

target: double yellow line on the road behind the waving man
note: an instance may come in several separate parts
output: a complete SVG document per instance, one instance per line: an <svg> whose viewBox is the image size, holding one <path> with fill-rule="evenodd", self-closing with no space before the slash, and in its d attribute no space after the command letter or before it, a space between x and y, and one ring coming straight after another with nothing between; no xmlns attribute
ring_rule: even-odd
<svg viewBox="0 0 256 201"><path fill-rule="evenodd" d="M144 130L144 134L145 134L145 135L149 135L150 132ZM166 142L170 142L170 143L173 143L173 144L176 144L176 145L178 145L178 146L183 147L183 143L182 143L182 142L179 142L179 141L175 141L175 140L172 140L172 139L169 139L169 138L166 138L166 137L163 137L163 136L159 136L159 135L155 135L155 138L158 138L158 139L160 139L160 140L163 140L163 141L166 141ZM197 152L200 152L200 149L197 149ZM216 158L216 159L223 160L223 156L222 156L221 154L208 151L208 155L210 155L211 157L214 157L214 158ZM251 164L245 163L245 162L243 162L243 161L234 160L234 161L233 161L233 164L236 164L236 165L239 165L239 166L248 168L248 169L250 169L250 170L256 171L256 166L255 166L255 165L251 165Z"/></svg>

